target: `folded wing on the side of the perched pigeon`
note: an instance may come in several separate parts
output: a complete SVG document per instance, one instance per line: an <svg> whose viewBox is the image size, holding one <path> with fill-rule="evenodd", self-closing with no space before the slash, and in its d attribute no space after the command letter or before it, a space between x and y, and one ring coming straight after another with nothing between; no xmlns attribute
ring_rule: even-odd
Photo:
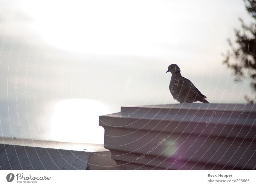
<svg viewBox="0 0 256 186"><path fill-rule="evenodd" d="M173 82L173 93L177 97L183 97L185 99L196 97L198 89L187 78L178 78L175 79Z"/></svg>

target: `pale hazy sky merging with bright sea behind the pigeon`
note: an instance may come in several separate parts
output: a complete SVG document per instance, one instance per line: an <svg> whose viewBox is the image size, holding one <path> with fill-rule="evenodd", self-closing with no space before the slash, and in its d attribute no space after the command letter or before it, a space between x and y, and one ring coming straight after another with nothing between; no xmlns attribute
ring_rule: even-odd
<svg viewBox="0 0 256 186"><path fill-rule="evenodd" d="M103 143L99 115L178 103L173 63L210 103L250 91L222 63L243 0L0 3L0 136Z"/></svg>

